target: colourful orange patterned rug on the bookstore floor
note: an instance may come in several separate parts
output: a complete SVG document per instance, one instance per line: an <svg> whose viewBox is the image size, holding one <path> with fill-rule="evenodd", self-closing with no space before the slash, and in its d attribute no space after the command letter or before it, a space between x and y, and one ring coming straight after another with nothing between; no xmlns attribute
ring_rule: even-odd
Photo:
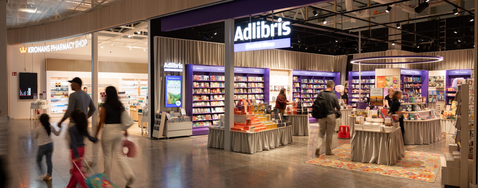
<svg viewBox="0 0 478 188"><path fill-rule="evenodd" d="M322 155L305 163L432 183L440 168L440 155L433 153L405 151L405 157L391 166L351 161L350 144L335 148L333 153L335 155Z"/></svg>

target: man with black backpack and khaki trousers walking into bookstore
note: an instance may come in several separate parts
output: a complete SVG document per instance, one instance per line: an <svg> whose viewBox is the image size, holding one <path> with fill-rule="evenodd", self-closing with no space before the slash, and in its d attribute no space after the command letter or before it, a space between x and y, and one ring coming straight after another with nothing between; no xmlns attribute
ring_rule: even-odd
<svg viewBox="0 0 478 188"><path fill-rule="evenodd" d="M340 104L337 95L334 93L335 83L332 80L327 81L327 88L320 92L315 98L312 110L312 116L319 119L319 136L317 137L317 148L315 155L320 156L320 147L324 143L324 135L326 139L326 155L334 155L331 151L332 137L335 130L336 114L340 114ZM336 110L337 109L337 110Z"/></svg>

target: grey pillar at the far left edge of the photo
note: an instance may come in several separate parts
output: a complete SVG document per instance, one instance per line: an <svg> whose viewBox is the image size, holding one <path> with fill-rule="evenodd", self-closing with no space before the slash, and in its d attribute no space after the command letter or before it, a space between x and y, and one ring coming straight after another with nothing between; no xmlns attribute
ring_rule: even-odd
<svg viewBox="0 0 478 188"><path fill-rule="evenodd" d="M8 88L9 70L8 70L8 53L7 53L7 1L0 1L0 88ZM0 90L0 114L10 115L9 113L9 96L8 89Z"/></svg>

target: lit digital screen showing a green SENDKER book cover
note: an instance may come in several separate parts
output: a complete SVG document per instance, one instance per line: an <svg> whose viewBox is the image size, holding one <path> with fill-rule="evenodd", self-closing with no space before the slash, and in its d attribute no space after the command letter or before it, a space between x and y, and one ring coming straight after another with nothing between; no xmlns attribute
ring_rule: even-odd
<svg viewBox="0 0 478 188"><path fill-rule="evenodd" d="M165 107L181 107L181 99L183 98L183 76L165 77L166 84L166 103Z"/></svg>

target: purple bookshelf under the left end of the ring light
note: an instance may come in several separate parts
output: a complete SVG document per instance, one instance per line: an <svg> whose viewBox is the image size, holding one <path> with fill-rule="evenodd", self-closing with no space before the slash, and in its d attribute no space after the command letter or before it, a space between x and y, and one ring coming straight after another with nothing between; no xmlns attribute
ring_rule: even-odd
<svg viewBox="0 0 478 188"><path fill-rule="evenodd" d="M359 71L348 72L348 105L357 107L357 102L364 96L370 97L370 88L375 87L375 71L361 71L361 96L359 95ZM368 81L367 81L368 80Z"/></svg>

